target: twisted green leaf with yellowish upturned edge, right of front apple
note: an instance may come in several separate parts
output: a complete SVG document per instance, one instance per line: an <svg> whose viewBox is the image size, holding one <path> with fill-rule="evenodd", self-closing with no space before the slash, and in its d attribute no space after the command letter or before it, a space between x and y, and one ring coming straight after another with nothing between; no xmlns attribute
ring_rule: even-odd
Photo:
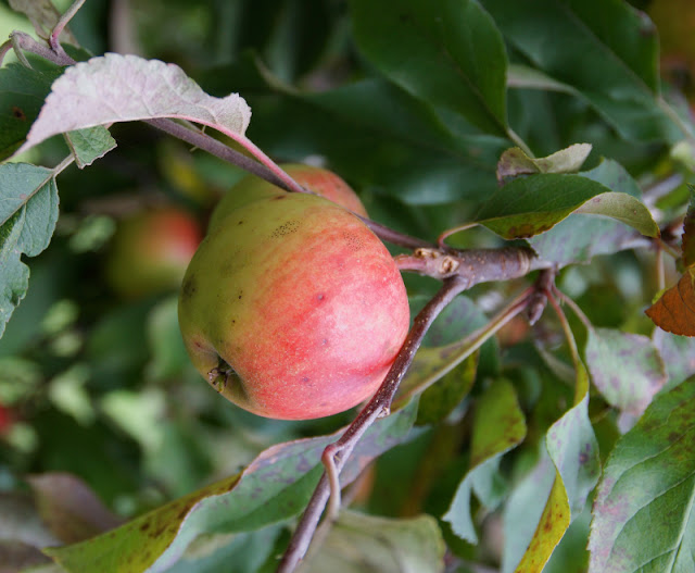
<svg viewBox="0 0 695 573"><path fill-rule="evenodd" d="M547 173L514 179L482 205L476 220L506 239L527 238L548 231L582 207L584 212L618 219L647 236L658 235L658 226L641 201L610 192L581 175Z"/></svg>

